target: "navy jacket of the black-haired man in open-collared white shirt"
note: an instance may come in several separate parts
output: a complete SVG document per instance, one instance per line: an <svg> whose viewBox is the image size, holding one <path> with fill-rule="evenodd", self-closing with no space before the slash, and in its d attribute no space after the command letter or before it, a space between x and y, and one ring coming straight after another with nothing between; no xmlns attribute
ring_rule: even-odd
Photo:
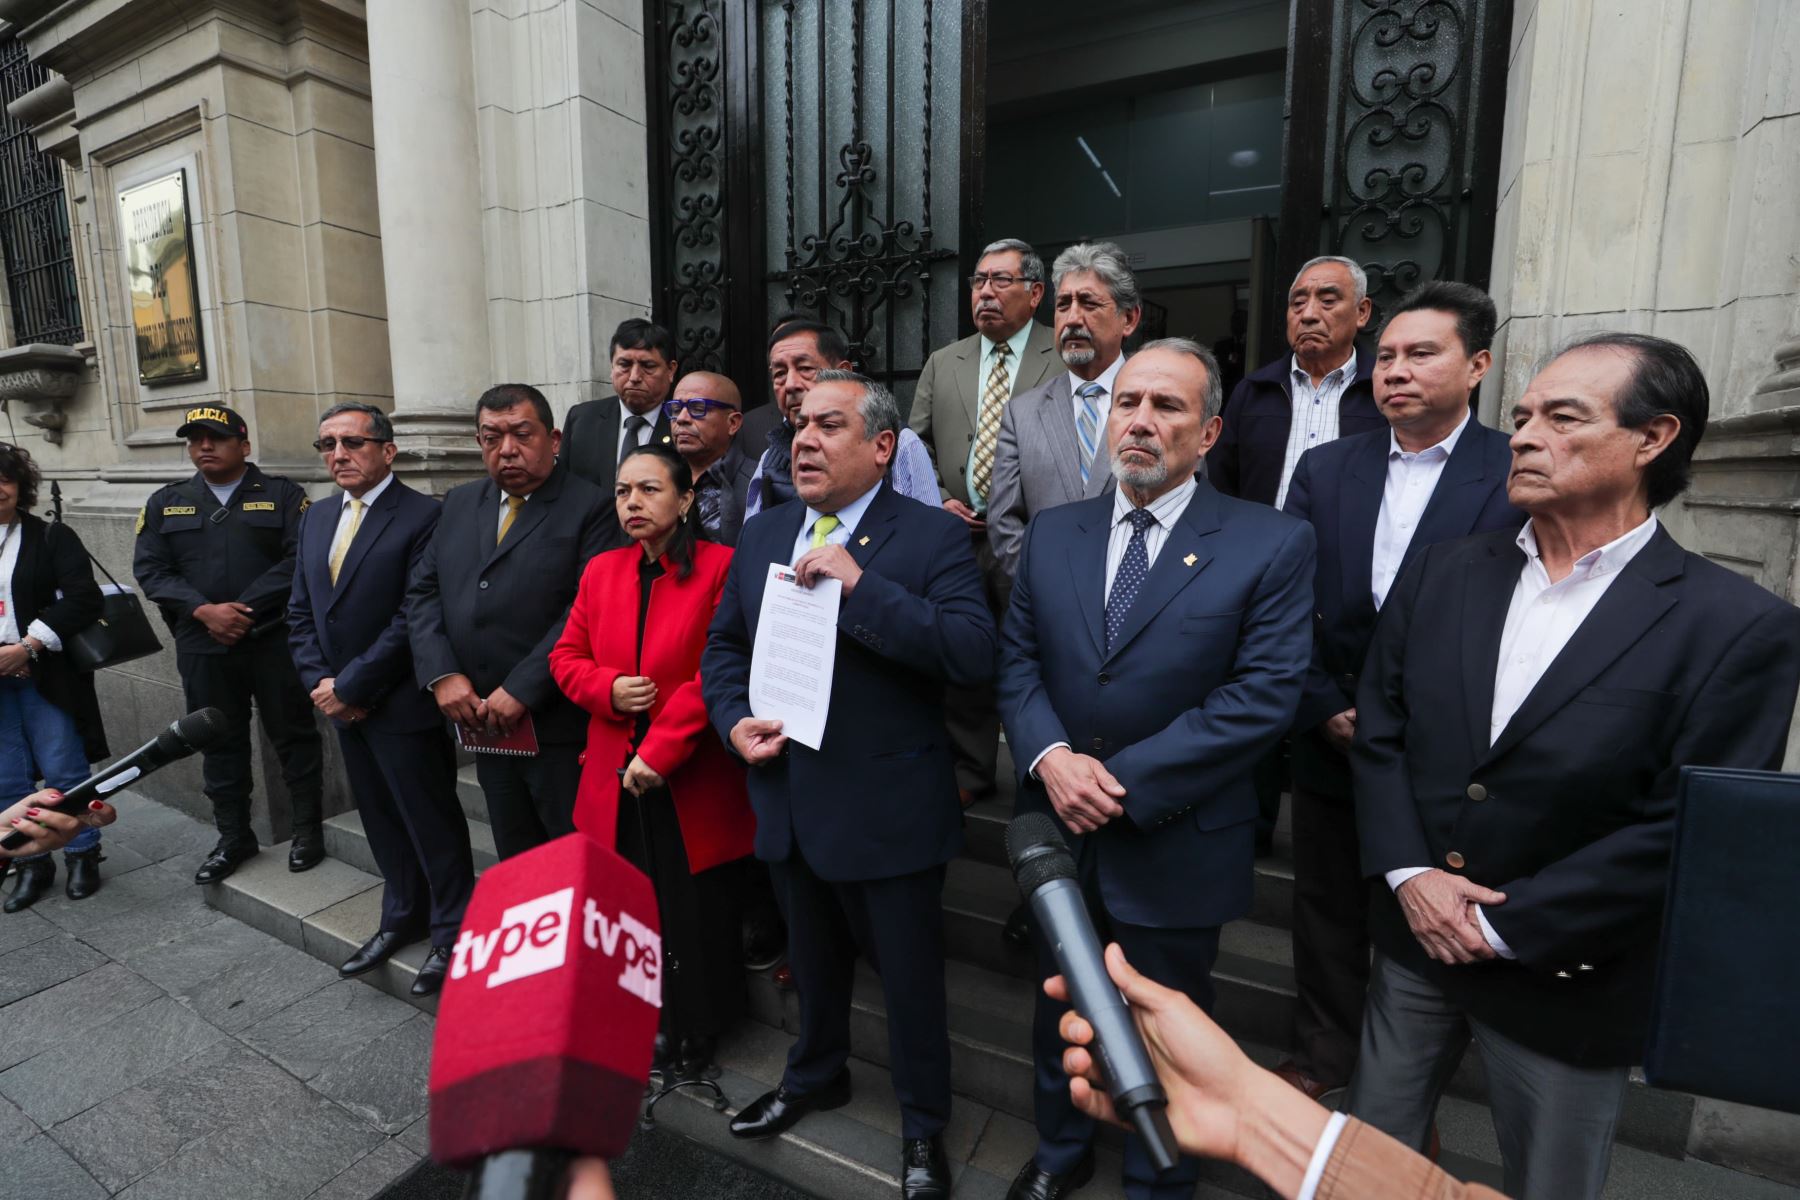
<svg viewBox="0 0 1800 1200"><path fill-rule="evenodd" d="M1319 725L1355 707L1355 685L1375 635L1375 524L1388 486L1386 428L1339 437L1300 455L1287 486L1287 511L1319 534L1312 579L1312 667L1294 716L1294 783L1321 795L1350 797L1350 763ZM1517 529L1525 513L1507 500L1512 439L1472 419L1456 439L1431 491L1400 570L1436 542L1489 529ZM1395 579L1399 581L1399 579Z"/></svg>

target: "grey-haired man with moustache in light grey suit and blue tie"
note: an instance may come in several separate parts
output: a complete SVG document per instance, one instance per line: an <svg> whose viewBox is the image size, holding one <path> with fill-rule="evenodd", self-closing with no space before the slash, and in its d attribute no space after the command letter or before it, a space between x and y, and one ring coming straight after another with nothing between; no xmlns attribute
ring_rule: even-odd
<svg viewBox="0 0 1800 1200"><path fill-rule="evenodd" d="M988 493L988 542L1010 581L1026 524L1048 507L1098 497L1112 482L1105 448L1112 383L1143 302L1125 252L1076 243L1051 268L1057 351L1067 371L1015 396L1001 417Z"/></svg>

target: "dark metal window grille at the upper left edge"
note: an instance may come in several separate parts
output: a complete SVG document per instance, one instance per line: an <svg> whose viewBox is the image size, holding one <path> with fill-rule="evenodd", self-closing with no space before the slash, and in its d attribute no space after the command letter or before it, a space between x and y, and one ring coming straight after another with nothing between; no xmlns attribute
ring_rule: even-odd
<svg viewBox="0 0 1800 1200"><path fill-rule="evenodd" d="M50 74L18 38L0 41L0 250L13 297L14 342L81 340L81 297L68 239L63 169L4 108Z"/></svg>

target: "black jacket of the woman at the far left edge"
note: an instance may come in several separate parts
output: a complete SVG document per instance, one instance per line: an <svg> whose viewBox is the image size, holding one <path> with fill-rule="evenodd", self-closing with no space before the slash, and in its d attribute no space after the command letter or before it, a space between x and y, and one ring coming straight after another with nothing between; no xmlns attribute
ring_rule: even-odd
<svg viewBox="0 0 1800 1200"><path fill-rule="evenodd" d="M31 664L38 694L76 718L90 763L110 757L106 727L101 723L94 675L68 660L68 639L101 619L101 588L94 567L76 531L61 522L43 522L31 513L18 515L18 560L13 563L13 615L18 635L31 633L32 621L43 621L63 640L63 653L40 655ZM11 804L16 795L0 797Z"/></svg>

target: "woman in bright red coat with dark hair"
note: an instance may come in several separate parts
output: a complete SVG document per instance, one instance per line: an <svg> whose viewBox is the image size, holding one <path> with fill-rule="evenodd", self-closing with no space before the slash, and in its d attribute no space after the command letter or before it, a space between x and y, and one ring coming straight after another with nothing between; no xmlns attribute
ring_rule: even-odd
<svg viewBox="0 0 1800 1200"><path fill-rule="evenodd" d="M614 497L634 545L587 565L551 673L592 714L574 824L655 885L664 1045L691 1078L745 1002L733 896L756 819L700 700L731 551L700 540L693 473L664 446L626 455Z"/></svg>

